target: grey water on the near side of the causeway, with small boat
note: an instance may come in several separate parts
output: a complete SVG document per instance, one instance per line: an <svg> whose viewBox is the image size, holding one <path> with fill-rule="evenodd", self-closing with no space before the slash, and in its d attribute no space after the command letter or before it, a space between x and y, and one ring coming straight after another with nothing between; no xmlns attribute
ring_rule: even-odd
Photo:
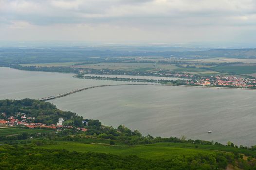
<svg viewBox="0 0 256 170"><path fill-rule="evenodd" d="M176 86L111 86L53 102L106 125L143 135L187 136L236 145L256 144L256 91ZM212 130L211 134L207 132Z"/></svg>

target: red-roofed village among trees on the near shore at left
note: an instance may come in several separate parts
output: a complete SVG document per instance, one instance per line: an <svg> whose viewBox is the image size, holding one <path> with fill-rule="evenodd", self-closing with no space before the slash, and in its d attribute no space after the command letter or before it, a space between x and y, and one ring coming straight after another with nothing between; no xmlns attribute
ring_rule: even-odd
<svg viewBox="0 0 256 170"><path fill-rule="evenodd" d="M57 124L46 125L44 123L34 122L35 117L26 117L25 113L20 113L20 112L15 116L10 116L9 118L6 117L5 113L1 113L0 116L1 118L5 118L5 119L0 119L0 126L8 126L8 127L23 126L30 129L47 128L47 129L55 129L57 131L75 128L69 125L62 125L62 122L63 122L62 118L59 119L59 122ZM88 125L86 121L83 121L82 123L85 125ZM86 128L82 128L82 127L77 127L76 129L83 132L87 131Z"/></svg>

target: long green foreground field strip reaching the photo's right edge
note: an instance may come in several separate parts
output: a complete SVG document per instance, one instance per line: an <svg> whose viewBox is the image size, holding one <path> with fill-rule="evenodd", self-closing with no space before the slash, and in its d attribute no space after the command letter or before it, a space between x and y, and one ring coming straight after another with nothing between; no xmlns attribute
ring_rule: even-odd
<svg viewBox="0 0 256 170"><path fill-rule="evenodd" d="M93 142L94 139L90 139ZM37 146L37 148L45 149L66 149L68 151L77 152L99 152L110 153L115 155L129 156L137 155L140 158L146 159L170 159L179 155L193 156L196 154L215 154L215 153L242 153L256 155L256 151L234 148L219 145L200 145L190 143L171 143L161 142L146 145L109 145L106 144L108 140L94 141L95 143L87 142L72 142L72 141L58 141L57 144ZM89 142L89 141L88 141ZM98 143L100 142L100 143Z"/></svg>

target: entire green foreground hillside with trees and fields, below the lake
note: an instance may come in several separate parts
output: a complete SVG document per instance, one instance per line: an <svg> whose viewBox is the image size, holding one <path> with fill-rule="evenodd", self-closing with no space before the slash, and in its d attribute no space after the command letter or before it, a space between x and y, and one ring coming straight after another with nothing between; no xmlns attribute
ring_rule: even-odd
<svg viewBox="0 0 256 170"><path fill-rule="evenodd" d="M224 170L227 166L256 168L255 147L227 145L185 136L142 136L138 130L117 128L89 120L56 106L32 99L1 100L0 167L2 170ZM65 118L71 126L28 128L11 124L20 113L35 116L32 121ZM68 114L69 113L69 114ZM53 115L55 115L53 117ZM68 117L67 115L72 115ZM9 118L7 118L7 116ZM38 117L40 119L38 119ZM79 119L80 118L80 119ZM87 123L82 124L82 120ZM18 120L17 120L18 121ZM31 121L31 122L30 122ZM11 126L10 126L11 125ZM81 131L83 126L85 131Z"/></svg>

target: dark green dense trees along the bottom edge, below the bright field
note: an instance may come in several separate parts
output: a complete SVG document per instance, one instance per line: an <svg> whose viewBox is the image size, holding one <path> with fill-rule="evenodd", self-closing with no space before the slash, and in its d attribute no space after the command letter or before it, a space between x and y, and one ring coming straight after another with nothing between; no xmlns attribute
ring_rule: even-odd
<svg viewBox="0 0 256 170"><path fill-rule="evenodd" d="M0 146L1 170L216 170L234 163L232 154L198 154L173 159L142 159L105 153Z"/></svg>

